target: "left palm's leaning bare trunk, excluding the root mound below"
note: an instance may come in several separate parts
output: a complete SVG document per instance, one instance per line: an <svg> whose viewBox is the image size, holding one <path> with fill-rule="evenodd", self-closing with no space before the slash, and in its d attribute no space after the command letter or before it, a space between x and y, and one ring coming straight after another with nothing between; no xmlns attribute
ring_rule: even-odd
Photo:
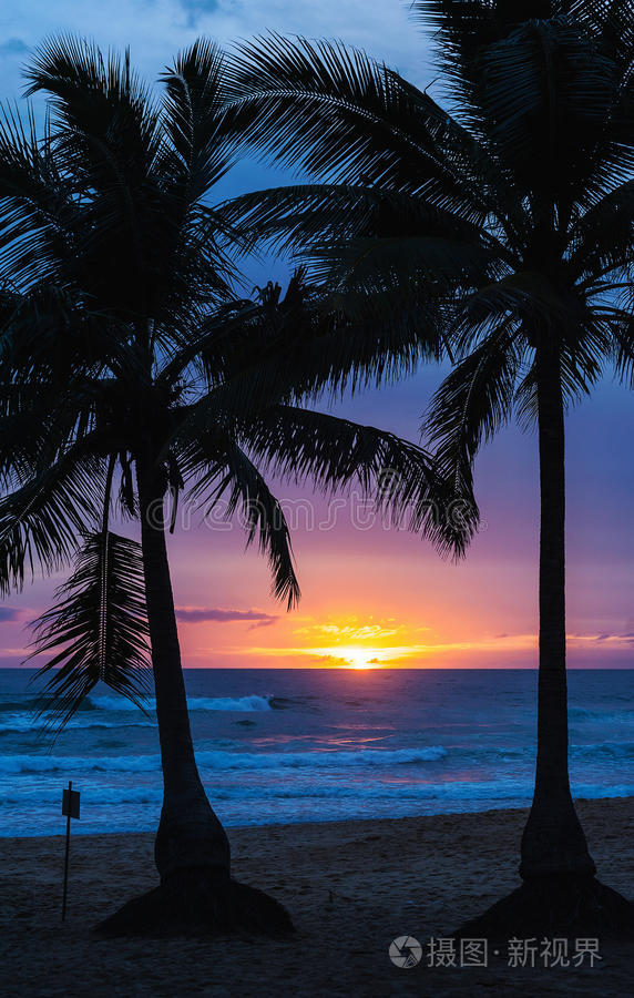
<svg viewBox="0 0 634 998"><path fill-rule="evenodd" d="M147 456L137 461L136 475L164 785L156 867L162 882L201 867L228 878L228 839L209 805L194 756L165 544L163 472Z"/></svg>

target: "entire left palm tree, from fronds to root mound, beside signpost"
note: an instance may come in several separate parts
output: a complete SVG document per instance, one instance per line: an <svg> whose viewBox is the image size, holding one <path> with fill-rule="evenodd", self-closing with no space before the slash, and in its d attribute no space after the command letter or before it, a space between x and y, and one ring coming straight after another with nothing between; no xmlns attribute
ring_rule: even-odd
<svg viewBox="0 0 634 998"><path fill-rule="evenodd" d="M231 878L196 767L165 539L178 497L242 510L289 608L299 588L267 471L327 492L358 482L387 511L408 507L423 534L446 531L421 448L300 407L300 340L309 352L334 336L301 275L284 298L269 287L235 299L244 244L206 201L234 156L224 67L217 48L195 44L154 102L127 57L52 40L28 71L48 96L43 140L16 115L0 129L0 591L75 561L37 622L55 729L99 681L143 703L151 652L161 886L108 919L111 934L290 927L280 905ZM114 532L113 515L140 523L141 541Z"/></svg>

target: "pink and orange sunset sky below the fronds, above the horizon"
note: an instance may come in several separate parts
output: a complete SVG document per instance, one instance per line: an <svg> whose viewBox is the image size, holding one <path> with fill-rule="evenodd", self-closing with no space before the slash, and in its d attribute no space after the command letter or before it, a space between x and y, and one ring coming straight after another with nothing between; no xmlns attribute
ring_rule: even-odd
<svg viewBox="0 0 634 998"><path fill-rule="evenodd" d="M346 403L360 421L417 439L439 373ZM605 384L569 418L570 664L632 664L634 538L630 523L634 405ZM509 429L483 450L478 487L484 529L467 559L442 561L406 531L365 525L351 500L328 508L309 489L278 488L298 521L294 547L303 590L287 613L244 534L192 529L170 541L183 660L187 666L402 665L518 668L535 664L536 441ZM298 503L299 500L299 503ZM307 522L314 501L313 522ZM361 513L364 517L361 518ZM289 513L292 515L292 513ZM328 529L325 522L330 517ZM0 662L18 664L24 621L51 583L14 599L0 623Z"/></svg>

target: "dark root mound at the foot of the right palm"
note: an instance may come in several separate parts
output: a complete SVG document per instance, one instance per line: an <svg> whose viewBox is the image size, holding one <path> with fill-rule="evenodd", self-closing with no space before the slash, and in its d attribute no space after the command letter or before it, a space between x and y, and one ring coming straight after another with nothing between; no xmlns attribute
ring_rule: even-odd
<svg viewBox="0 0 634 998"><path fill-rule="evenodd" d="M596 877L534 877L460 926L457 937L508 940L530 937L634 939L634 904Z"/></svg>

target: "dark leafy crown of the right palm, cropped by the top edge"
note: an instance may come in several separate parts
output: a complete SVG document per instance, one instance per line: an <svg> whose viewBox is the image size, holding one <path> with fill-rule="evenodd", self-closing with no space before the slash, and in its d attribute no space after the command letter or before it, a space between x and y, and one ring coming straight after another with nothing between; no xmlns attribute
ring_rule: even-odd
<svg viewBox="0 0 634 998"><path fill-rule="evenodd" d="M224 214L308 255L335 301L381 320L384 337L389 318L384 364L386 352L405 364L469 354L472 456L513 404L530 416L538 327L559 342L569 398L605 359L631 373L632 14L626 3L413 8L437 29L449 110L340 44L241 47L236 124L327 183L245 195ZM503 387L492 359L478 368L479 349L503 364Z"/></svg>

